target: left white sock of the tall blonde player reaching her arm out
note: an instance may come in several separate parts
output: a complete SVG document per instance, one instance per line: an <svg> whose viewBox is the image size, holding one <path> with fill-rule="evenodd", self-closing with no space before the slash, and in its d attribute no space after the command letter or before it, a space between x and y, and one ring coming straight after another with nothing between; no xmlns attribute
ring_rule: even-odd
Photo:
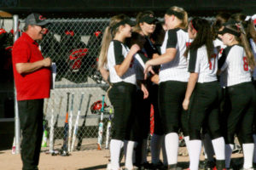
<svg viewBox="0 0 256 170"><path fill-rule="evenodd" d="M177 133L166 134L166 155L168 165L177 163L178 135Z"/></svg>

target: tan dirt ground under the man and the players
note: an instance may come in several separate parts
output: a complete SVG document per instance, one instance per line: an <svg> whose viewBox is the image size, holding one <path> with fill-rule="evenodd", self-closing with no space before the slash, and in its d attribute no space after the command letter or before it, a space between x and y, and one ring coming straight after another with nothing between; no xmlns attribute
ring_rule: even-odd
<svg viewBox="0 0 256 170"><path fill-rule="evenodd" d="M185 153L180 148L180 153ZM241 154L234 154L238 164L241 165ZM92 170L106 169L109 159L109 150L82 150L74 151L71 156L50 156L42 152L40 155L40 170ZM150 157L148 156L148 161ZM201 160L203 156L201 155ZM185 168L189 166L189 156L178 156L178 164ZM22 167L20 155L13 155L11 150L0 151L0 170L19 170Z"/></svg>

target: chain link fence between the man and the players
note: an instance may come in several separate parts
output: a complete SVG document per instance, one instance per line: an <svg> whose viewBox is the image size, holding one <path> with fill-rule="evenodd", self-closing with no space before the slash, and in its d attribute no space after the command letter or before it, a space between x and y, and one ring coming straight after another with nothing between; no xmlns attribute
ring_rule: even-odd
<svg viewBox="0 0 256 170"><path fill-rule="evenodd" d="M43 56L50 57L56 65L55 88L51 90L50 98L44 100L44 127L49 134L50 127L55 125L55 148L63 144L67 112L69 127L72 124L69 133L73 133L76 119L79 120L74 150L97 147L102 95L106 95L108 84L96 70L96 60L108 22L109 19L50 19L48 32L38 42ZM23 26L24 20L20 20L20 30ZM70 94L68 100L67 93ZM84 99L78 117L82 94ZM108 97L105 103L103 143L111 108ZM79 143L81 146L77 147ZM49 138L45 149L49 149Z"/></svg>

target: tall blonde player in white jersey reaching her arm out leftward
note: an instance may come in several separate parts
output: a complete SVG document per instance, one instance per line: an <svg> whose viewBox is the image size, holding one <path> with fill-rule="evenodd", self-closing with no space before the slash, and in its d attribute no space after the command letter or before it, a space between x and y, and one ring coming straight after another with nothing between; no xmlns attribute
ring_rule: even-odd
<svg viewBox="0 0 256 170"><path fill-rule="evenodd" d="M189 42L188 32L183 31L188 26L188 14L183 8L169 8L165 14L165 22L169 30L166 31L166 37L161 46L162 55L148 60L144 72L148 72L150 65L161 65L159 73L160 116L163 122L163 130L166 134L165 144L168 169L176 169L177 132L180 128L180 117L183 113L182 102L189 78L187 60L183 56L186 42ZM187 124L187 122L183 124ZM186 131L183 132L186 133Z"/></svg>

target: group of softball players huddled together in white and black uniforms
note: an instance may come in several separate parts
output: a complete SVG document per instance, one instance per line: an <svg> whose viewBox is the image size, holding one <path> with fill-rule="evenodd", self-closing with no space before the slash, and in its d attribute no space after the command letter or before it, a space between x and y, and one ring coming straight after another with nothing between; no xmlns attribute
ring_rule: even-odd
<svg viewBox="0 0 256 170"><path fill-rule="evenodd" d="M183 8L166 11L159 22L152 11L113 16L106 28L98 69L109 82L113 105L111 161L119 170L177 167L180 131L189 153L189 169L231 169L237 136L242 169L256 165L255 80L256 16L218 14L213 23L188 19ZM150 109L154 133L147 160ZM254 139L254 140L253 140ZM160 161L160 150L163 162Z"/></svg>

